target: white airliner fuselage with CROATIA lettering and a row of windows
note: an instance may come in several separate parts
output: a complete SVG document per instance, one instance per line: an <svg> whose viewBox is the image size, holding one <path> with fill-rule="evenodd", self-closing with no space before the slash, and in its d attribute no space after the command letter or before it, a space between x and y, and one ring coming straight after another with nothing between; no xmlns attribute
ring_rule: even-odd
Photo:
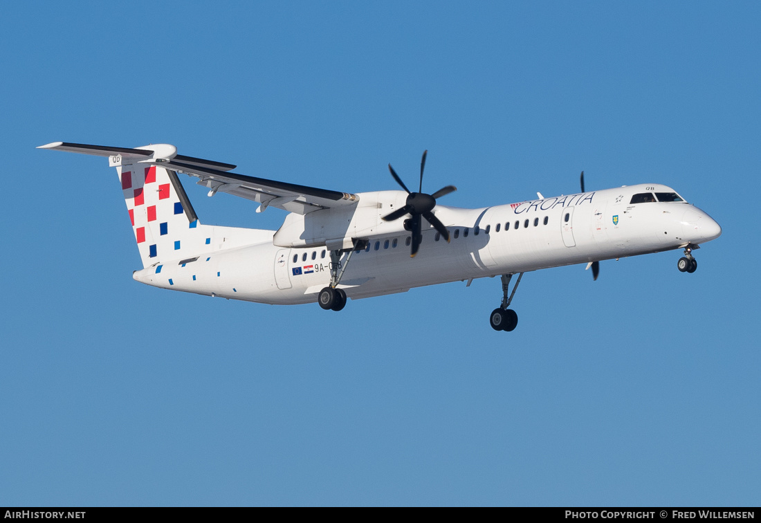
<svg viewBox="0 0 761 523"><path fill-rule="evenodd" d="M410 234L402 228L403 220L380 219L403 206L406 193L359 193L363 208L377 211L363 218L358 239L367 240L368 246L352 252L338 287L349 298L367 298L696 246L721 234L710 216L684 201L632 202L635 195L647 193L676 195L670 187L641 184L482 209L438 205L435 215L446 225L451 242L424 227L414 258L409 257ZM271 232L275 238L281 234ZM342 254L342 264L348 256ZM201 295L280 305L314 303L330 282L330 251L325 246L279 247L266 241L217 250L185 263L162 260L159 266L135 271L133 277Z"/></svg>

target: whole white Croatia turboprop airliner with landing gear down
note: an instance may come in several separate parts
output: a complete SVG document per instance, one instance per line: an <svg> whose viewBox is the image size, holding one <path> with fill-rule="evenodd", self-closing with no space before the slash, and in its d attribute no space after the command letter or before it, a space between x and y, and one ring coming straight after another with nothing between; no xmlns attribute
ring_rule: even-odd
<svg viewBox="0 0 761 523"><path fill-rule="evenodd" d="M389 164L402 190L342 193L236 174L235 165L178 155L174 145L137 148L53 142L39 148L108 158L119 174L143 268L132 278L161 289L272 305L314 303L340 311L347 298L500 276L502 298L489 315L511 331L511 301L524 273L683 250L677 268L694 273L693 250L718 238L708 214L658 183L480 209L438 204L456 188L417 192ZM202 225L178 174L209 196L228 193L288 212L277 231ZM415 187L413 187L414 189ZM510 290L513 276L517 278Z"/></svg>

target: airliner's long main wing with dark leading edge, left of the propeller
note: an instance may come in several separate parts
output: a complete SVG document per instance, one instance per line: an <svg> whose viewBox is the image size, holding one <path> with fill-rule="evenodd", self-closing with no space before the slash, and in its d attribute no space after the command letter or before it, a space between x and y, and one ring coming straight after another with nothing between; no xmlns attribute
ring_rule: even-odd
<svg viewBox="0 0 761 523"><path fill-rule="evenodd" d="M208 187L209 196L228 193L261 203L256 212L262 212L267 207L277 207L304 215L318 209L354 205L359 201L359 196L355 194L221 171L178 161L177 157L157 165L199 178L196 183Z"/></svg>

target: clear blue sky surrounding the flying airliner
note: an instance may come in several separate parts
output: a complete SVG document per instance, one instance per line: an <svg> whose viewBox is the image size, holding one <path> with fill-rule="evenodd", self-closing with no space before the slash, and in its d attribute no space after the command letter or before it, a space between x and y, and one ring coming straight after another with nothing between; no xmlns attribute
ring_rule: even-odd
<svg viewBox="0 0 761 523"><path fill-rule="evenodd" d="M0 505L758 505L755 2L17 2L0 18ZM167 292L116 174L167 142L477 207L665 183L696 252L317 305ZM277 228L207 198L204 223Z"/></svg>

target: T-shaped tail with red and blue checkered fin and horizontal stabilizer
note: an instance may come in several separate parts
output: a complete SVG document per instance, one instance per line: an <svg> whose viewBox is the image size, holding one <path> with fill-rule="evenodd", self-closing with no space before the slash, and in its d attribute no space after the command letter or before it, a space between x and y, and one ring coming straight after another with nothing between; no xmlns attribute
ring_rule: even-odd
<svg viewBox="0 0 761 523"><path fill-rule="evenodd" d="M110 167L119 174L144 268L272 239L272 231L201 225L177 173L156 163L181 158L223 171L234 165L180 156L174 145L165 144L130 149L53 142L40 148L109 157Z"/></svg>

